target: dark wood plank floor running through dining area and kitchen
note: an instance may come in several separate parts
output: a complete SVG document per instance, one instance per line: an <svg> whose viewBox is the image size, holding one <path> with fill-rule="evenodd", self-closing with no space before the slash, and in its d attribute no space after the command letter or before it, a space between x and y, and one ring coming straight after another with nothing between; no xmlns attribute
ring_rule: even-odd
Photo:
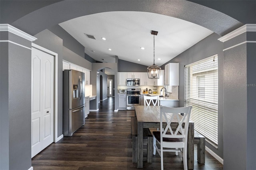
<svg viewBox="0 0 256 170"><path fill-rule="evenodd" d="M64 136L34 156L34 170L136 170L137 164L132 163L130 134L130 118L134 117L134 111L114 112L114 97L101 102L99 109L98 112L90 112L85 125L72 137ZM148 164L145 155L144 169L161 169L157 153L152 162ZM164 169L182 170L181 154L176 156L165 152ZM195 160L194 169L222 170L223 166L206 152L206 163L198 164Z"/></svg>

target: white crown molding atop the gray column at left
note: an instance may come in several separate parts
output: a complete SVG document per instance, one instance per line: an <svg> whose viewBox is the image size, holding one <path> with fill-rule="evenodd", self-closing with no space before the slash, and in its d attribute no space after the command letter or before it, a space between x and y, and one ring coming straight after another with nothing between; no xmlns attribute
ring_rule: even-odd
<svg viewBox="0 0 256 170"><path fill-rule="evenodd" d="M12 34L25 38L26 40L29 40L31 42L37 40L37 38L35 38L34 36L31 36L26 32L23 32L22 30L19 30L18 28L15 28L14 26L11 26L9 24L0 24L0 31L11 32Z"/></svg>

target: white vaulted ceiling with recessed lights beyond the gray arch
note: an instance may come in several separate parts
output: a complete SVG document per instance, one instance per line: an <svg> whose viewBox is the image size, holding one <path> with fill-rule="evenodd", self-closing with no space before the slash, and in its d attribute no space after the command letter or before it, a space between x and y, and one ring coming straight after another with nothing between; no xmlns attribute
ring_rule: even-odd
<svg viewBox="0 0 256 170"><path fill-rule="evenodd" d="M158 31L155 64L159 66L213 33L197 24L150 12L103 12L59 25L84 45L84 52L97 61L114 63L117 55L119 59L146 66L153 64L154 36L151 30ZM84 34L92 35L96 40Z"/></svg>

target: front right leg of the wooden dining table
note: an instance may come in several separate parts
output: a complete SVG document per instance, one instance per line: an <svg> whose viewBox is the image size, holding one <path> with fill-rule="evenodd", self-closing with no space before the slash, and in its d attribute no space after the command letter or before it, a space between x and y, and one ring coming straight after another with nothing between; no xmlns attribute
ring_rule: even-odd
<svg viewBox="0 0 256 170"><path fill-rule="evenodd" d="M194 169L194 123L188 125L188 169Z"/></svg>

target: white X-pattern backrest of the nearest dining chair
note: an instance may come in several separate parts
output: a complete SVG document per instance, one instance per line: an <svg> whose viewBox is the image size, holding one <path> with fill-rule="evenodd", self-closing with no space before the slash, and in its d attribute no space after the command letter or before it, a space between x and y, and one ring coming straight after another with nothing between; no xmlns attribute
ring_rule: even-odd
<svg viewBox="0 0 256 170"><path fill-rule="evenodd" d="M185 138L186 144L188 136L188 123L190 119L190 112L192 106L187 107L166 107L160 106L160 129L164 128L164 131L160 133L161 142L162 138ZM183 113L184 115L181 115ZM163 127L163 123L166 122L166 127ZM172 123L178 123L177 126L172 127ZM182 127L182 124L184 126Z"/></svg>

